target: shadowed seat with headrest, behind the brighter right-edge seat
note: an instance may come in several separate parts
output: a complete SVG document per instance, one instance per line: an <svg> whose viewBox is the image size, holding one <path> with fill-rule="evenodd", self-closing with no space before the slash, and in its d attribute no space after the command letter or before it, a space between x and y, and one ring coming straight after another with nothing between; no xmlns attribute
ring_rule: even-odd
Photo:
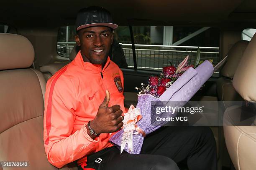
<svg viewBox="0 0 256 170"><path fill-rule="evenodd" d="M216 82L218 99L223 101L225 109L232 104L232 102L225 101L243 100L243 98L234 89L232 79L248 43L249 41L241 40L231 47L227 54L227 62L220 71L223 77L220 77Z"/></svg>

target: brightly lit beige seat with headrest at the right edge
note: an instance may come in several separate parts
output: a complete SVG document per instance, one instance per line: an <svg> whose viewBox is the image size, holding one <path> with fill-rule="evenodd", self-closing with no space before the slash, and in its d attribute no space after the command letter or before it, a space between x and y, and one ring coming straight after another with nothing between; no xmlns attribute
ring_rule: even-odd
<svg viewBox="0 0 256 170"><path fill-rule="evenodd" d="M233 87L247 101L225 110L223 129L228 153L236 170L256 170L256 36L248 44L233 77ZM247 114L246 119L242 119ZM251 126L240 126L251 125Z"/></svg>

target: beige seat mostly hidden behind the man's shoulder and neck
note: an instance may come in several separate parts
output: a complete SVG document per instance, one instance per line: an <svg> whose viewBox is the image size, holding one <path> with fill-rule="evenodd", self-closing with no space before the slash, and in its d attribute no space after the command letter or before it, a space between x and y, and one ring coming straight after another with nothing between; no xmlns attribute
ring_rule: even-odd
<svg viewBox="0 0 256 170"><path fill-rule="evenodd" d="M78 51L79 51L79 46L74 45L74 47L69 55L70 61L74 60ZM61 69L65 65L67 65L67 63L59 63L59 60L58 60L58 63L52 63L52 64L48 64L48 65L44 65L44 66L40 67L40 71L43 72L44 78L47 81L47 80L49 80L49 78L51 78L52 75L55 74L55 72L57 72L59 69Z"/></svg>

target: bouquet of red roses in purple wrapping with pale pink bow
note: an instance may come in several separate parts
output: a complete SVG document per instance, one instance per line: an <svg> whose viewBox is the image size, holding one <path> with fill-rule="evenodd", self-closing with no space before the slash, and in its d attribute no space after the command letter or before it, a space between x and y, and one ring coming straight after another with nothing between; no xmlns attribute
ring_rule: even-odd
<svg viewBox="0 0 256 170"><path fill-rule="evenodd" d="M165 107L169 101L182 107L195 95L213 73L212 61L200 61L200 51L194 65L188 65L188 57L177 66L164 67L160 76L150 77L148 85L141 84L136 108L131 105L124 115L123 129L110 138L110 142L120 148L121 153L139 154L143 138L160 128L166 122L157 122L151 114L155 107ZM201 62L201 63L200 63ZM154 105L152 105L154 103ZM161 117L174 117L176 113L161 112ZM155 121L154 121L155 120ZM127 145L126 145L127 144Z"/></svg>

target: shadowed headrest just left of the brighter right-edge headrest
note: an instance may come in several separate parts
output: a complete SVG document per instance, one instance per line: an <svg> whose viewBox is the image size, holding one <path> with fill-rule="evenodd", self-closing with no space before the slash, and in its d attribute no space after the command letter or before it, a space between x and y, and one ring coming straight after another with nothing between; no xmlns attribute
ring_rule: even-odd
<svg viewBox="0 0 256 170"><path fill-rule="evenodd" d="M228 51L227 62L224 67L221 69L221 75L224 77L233 78L236 72L236 67L238 66L241 57L243 56L244 51L248 45L249 41L241 40L236 42L231 49Z"/></svg>

